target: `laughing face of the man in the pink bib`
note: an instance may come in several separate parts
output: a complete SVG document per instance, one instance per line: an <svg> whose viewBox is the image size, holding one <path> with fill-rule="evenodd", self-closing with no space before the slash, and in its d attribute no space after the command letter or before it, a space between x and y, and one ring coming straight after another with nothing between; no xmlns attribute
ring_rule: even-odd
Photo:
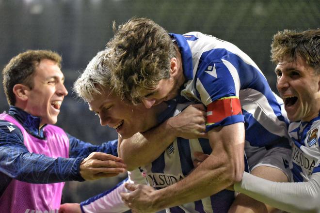
<svg viewBox="0 0 320 213"><path fill-rule="evenodd" d="M68 91L64 75L54 61L44 59L35 68L33 88L26 90L28 100L24 110L41 118L40 126L57 122L60 106Z"/></svg>

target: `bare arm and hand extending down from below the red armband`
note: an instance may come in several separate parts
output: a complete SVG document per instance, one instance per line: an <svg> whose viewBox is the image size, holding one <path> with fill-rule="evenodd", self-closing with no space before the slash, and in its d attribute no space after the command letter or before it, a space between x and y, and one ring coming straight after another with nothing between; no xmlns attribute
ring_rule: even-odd
<svg viewBox="0 0 320 213"><path fill-rule="evenodd" d="M243 123L236 123L211 130L208 137L215 140L214 144L210 143L213 152L190 175L160 190L128 185L128 189L133 192L122 195L126 204L138 212L156 212L208 197L241 180L244 169L243 152L240 155L238 151L243 150L243 128ZM230 131L235 134L230 134ZM222 138L229 143L225 144ZM243 139L243 143L234 143L239 138Z"/></svg>

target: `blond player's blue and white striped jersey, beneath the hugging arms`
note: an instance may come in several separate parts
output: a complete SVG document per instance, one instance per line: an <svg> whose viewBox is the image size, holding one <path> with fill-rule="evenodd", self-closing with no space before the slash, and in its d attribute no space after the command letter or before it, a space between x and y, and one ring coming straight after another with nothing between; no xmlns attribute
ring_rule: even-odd
<svg viewBox="0 0 320 213"><path fill-rule="evenodd" d="M188 104L178 104L174 101L168 101L168 108L162 112L158 118L163 122L172 115L181 112ZM161 142L161 141L159 141ZM208 139L184 139L176 138L173 143L152 163L145 167L139 167L129 175L127 183L143 183L145 178L147 184L156 189L172 185L185 178L194 168L193 152L211 153L211 147ZM143 153L142 153L143 154ZM244 159L246 162L246 158ZM248 164L245 163L245 170L248 171ZM81 202L80 206L83 212L94 213L99 211L117 212L126 211L125 206L120 198L121 192L128 192L124 183L118 184L113 189L106 191L94 198ZM223 190L213 196L197 200L195 202L166 209L167 213L227 213L235 198L235 193L229 190Z"/></svg>

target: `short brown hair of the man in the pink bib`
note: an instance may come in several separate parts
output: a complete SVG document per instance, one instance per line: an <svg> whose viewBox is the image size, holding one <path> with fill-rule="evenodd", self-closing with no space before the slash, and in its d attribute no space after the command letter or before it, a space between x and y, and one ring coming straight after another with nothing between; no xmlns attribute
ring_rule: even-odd
<svg viewBox="0 0 320 213"><path fill-rule="evenodd" d="M27 50L13 57L2 70L2 84L9 105L16 104L16 96L13 88L16 84L24 84L33 87L33 74L36 66L43 59L49 59L57 63L61 68L61 56L50 50Z"/></svg>

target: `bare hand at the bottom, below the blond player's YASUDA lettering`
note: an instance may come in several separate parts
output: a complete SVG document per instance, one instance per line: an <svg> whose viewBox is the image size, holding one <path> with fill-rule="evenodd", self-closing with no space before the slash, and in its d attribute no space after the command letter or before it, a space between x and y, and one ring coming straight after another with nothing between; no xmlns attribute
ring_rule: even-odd
<svg viewBox="0 0 320 213"><path fill-rule="evenodd" d="M125 202L133 213L153 213L159 211L152 204L153 193L155 189L144 184L126 183L125 187L132 191L130 193L120 193L122 200Z"/></svg>

